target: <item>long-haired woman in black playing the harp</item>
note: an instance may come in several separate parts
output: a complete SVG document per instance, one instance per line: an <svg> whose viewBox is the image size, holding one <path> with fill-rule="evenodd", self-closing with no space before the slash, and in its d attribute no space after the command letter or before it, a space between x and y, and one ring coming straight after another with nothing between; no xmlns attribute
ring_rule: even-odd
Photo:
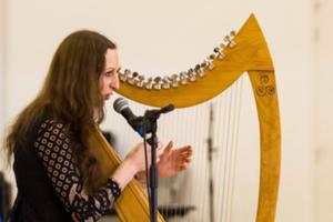
<svg viewBox="0 0 333 222"><path fill-rule="evenodd" d="M144 174L138 143L103 186L88 152L89 132L104 119L104 101L119 88L117 47L93 31L78 31L59 46L38 97L18 115L6 140L14 157L18 195L11 221L97 221L130 180ZM159 145L159 175L184 170L192 148ZM150 154L150 151L149 151Z"/></svg>

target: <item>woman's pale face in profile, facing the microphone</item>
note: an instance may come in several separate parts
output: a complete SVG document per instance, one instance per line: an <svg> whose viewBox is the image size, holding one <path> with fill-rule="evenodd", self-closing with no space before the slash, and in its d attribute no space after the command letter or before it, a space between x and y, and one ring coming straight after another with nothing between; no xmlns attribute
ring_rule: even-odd
<svg viewBox="0 0 333 222"><path fill-rule="evenodd" d="M101 93L104 100L108 100L113 91L119 89L119 56L115 49L108 49L105 53L105 64L100 74Z"/></svg>

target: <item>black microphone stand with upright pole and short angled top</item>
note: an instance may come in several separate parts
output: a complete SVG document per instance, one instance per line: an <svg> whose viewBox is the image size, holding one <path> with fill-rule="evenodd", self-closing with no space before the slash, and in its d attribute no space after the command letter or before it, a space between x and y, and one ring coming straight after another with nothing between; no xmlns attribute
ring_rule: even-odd
<svg viewBox="0 0 333 222"><path fill-rule="evenodd" d="M149 124L148 128L151 132L151 138L149 143L151 144L151 167L150 167L150 219L151 222L158 221L158 163L157 163L157 148L158 148L158 119L160 114L170 112L174 109L173 104L169 104L160 110L148 110L144 113L144 123Z"/></svg>

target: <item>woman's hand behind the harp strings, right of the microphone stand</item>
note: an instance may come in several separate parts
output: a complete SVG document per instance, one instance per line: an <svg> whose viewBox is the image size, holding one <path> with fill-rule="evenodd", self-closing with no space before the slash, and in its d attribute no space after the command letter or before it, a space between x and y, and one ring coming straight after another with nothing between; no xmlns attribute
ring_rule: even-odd
<svg viewBox="0 0 333 222"><path fill-rule="evenodd" d="M173 142L170 141L159 157L158 169L160 178L169 178L185 170L192 160L193 150L191 145L176 149L172 147Z"/></svg>

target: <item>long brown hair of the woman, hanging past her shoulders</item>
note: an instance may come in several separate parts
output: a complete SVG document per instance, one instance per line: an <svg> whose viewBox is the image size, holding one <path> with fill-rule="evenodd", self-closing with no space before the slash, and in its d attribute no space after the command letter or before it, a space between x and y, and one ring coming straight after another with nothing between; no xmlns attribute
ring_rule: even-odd
<svg viewBox="0 0 333 222"><path fill-rule="evenodd" d="M89 30L73 32L60 43L41 91L19 113L4 139L9 164L16 144L27 144L29 131L48 113L68 124L74 135L72 150L84 184L91 192L97 189L92 182L95 159L88 153L88 134L105 115L99 77L104 69L108 49L117 49L117 46Z"/></svg>

